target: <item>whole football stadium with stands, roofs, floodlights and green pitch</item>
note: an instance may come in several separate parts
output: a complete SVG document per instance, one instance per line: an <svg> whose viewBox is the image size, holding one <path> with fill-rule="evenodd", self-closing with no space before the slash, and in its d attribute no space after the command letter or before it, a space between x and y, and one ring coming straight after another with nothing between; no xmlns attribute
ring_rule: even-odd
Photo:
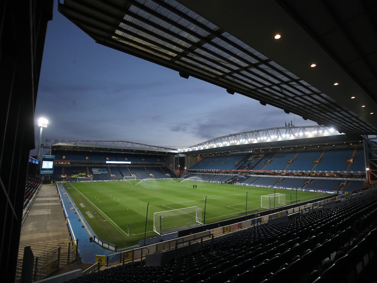
<svg viewBox="0 0 377 283"><path fill-rule="evenodd" d="M2 12L5 282L377 281L377 3L52 2ZM185 148L42 139L48 122L30 121L55 12L106 48L316 125Z"/></svg>

